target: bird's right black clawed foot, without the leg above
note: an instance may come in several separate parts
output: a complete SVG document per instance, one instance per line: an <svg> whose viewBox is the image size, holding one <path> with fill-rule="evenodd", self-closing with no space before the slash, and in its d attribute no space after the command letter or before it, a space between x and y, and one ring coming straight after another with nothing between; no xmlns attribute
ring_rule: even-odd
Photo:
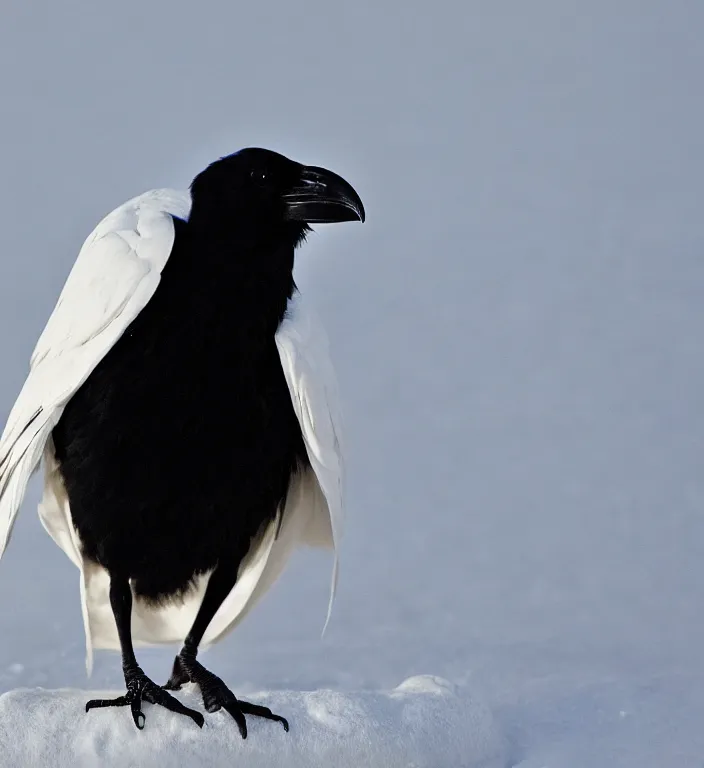
<svg viewBox="0 0 704 768"><path fill-rule="evenodd" d="M263 717L266 720L275 720L288 731L288 721L280 715L275 715L268 707L259 704L250 704L236 698L235 694L223 683L223 681L209 672L194 657L177 656L174 660L174 668L169 681L164 688L177 691L184 683L195 683L203 696L203 704L208 712L217 712L224 709L232 716L240 729L242 738L247 738L247 721L245 715Z"/></svg>

